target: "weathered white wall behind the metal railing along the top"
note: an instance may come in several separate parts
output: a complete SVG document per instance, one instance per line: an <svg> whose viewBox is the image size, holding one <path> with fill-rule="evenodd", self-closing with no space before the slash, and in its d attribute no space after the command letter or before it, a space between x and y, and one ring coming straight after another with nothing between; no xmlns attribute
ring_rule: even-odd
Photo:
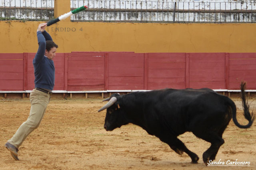
<svg viewBox="0 0 256 170"><path fill-rule="evenodd" d="M173 12L174 2L176 2L175 18ZM174 19L180 22L256 21L256 14L246 13L249 10L256 10L256 0L221 0L221 2L218 0L70 1L71 8L78 8L84 5L89 6L89 10L72 16L71 20L149 22L171 22ZM4 6L5 8L3 8ZM12 8L8 12L8 8L11 7L15 7L16 9ZM54 0L0 0L0 17L2 18L47 20L52 18L53 9ZM201 12L198 12L198 10ZM220 10L225 12L221 12Z"/></svg>

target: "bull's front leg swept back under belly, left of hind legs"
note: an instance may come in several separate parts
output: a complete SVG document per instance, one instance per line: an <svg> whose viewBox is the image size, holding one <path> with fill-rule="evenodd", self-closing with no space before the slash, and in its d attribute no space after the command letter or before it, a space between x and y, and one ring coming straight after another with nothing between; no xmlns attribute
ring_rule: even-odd
<svg viewBox="0 0 256 170"><path fill-rule="evenodd" d="M171 149L173 149L176 153L178 154L182 154L183 152L186 152L188 154L188 156L190 156L192 163L197 163L197 161L199 160L199 157L197 156L197 154L195 154L194 152L191 152L190 150L188 150L188 148L184 145L184 143L182 141L180 141L180 139L178 139L177 137L170 137L170 138L161 138L160 140L167 143Z"/></svg>

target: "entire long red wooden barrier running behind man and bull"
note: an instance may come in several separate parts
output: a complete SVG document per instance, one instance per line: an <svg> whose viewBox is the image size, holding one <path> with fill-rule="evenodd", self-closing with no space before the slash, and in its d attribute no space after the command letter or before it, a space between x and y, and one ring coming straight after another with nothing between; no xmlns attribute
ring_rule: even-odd
<svg viewBox="0 0 256 170"><path fill-rule="evenodd" d="M35 53L0 53L0 91L34 88ZM256 89L256 53L57 53L54 90Z"/></svg>

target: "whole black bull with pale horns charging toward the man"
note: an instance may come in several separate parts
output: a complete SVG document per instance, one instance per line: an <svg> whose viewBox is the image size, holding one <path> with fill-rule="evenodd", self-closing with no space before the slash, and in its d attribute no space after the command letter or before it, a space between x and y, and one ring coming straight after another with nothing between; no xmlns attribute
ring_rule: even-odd
<svg viewBox="0 0 256 170"><path fill-rule="evenodd" d="M112 131L117 127L133 123L150 135L167 143L176 153L186 152L197 163L198 156L191 152L177 136L187 131L211 143L203 154L207 165L214 160L224 143L222 134L231 118L236 126L248 128L254 121L246 103L245 83L241 83L241 98L247 125L240 125L236 119L236 105L227 96L208 88L163 89L149 92L132 92L126 95L112 94L99 111L107 109L104 128Z"/></svg>

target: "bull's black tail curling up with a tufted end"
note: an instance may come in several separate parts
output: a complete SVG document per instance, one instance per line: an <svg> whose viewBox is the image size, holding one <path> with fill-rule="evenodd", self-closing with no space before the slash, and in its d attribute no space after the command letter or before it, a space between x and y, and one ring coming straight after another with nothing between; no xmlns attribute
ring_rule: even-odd
<svg viewBox="0 0 256 170"><path fill-rule="evenodd" d="M255 119L254 113L250 113L248 102L246 102L246 93L244 91L245 87L246 87L246 83L241 82L240 89L241 89L242 105L243 105L243 109L244 109L244 117L249 121L247 125L240 125L238 123L238 121L236 119L236 106L235 106L234 102L233 102L233 104L231 104L233 121L234 121L235 125L240 128L249 128Z"/></svg>

